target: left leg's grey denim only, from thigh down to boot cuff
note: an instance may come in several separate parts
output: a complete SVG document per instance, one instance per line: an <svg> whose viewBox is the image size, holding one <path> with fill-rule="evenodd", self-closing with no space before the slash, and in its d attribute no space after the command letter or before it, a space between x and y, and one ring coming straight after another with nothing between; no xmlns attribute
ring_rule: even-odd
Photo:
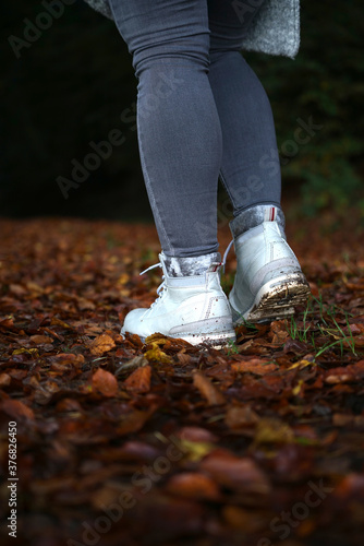
<svg viewBox="0 0 364 546"><path fill-rule="evenodd" d="M110 0L138 79L142 167L162 251L216 252L221 128L208 81L206 0ZM198 232L208 217L204 237Z"/></svg>

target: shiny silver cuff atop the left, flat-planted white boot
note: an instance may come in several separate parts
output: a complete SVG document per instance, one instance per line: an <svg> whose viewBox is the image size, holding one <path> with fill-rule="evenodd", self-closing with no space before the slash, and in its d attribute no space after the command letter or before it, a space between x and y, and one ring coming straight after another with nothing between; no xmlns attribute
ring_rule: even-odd
<svg viewBox="0 0 364 546"><path fill-rule="evenodd" d="M204 275L207 271L216 271L221 262L221 254L220 252L211 252L191 258L175 258L161 252L159 259L167 276L182 277Z"/></svg>

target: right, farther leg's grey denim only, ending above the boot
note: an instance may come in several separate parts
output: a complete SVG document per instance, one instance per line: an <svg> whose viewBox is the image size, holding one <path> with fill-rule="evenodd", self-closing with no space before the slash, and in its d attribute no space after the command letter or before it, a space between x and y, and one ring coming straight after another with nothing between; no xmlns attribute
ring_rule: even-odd
<svg viewBox="0 0 364 546"><path fill-rule="evenodd" d="M210 70L222 128L220 177L233 214L256 204L280 203L281 178L275 122L267 94L241 55L241 43L263 4L246 4L244 17L233 2L208 0Z"/></svg>

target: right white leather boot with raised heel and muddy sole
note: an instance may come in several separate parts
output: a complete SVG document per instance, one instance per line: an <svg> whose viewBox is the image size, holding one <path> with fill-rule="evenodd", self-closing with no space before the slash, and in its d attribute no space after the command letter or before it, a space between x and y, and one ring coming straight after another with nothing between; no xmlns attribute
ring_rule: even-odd
<svg viewBox="0 0 364 546"><path fill-rule="evenodd" d="M233 323L283 319L305 305L310 286L274 205L247 209L230 223L238 260L229 301Z"/></svg>

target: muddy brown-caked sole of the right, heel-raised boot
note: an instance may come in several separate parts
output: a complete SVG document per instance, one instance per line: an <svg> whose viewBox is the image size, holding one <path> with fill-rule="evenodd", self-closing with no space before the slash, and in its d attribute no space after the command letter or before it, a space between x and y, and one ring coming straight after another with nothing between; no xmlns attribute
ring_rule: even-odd
<svg viewBox="0 0 364 546"><path fill-rule="evenodd" d="M247 310L239 312L233 294L230 305L234 325L244 321L270 322L286 319L295 312L295 307L305 305L311 294L310 285L303 274L287 274L276 277L262 286L253 304Z"/></svg>

